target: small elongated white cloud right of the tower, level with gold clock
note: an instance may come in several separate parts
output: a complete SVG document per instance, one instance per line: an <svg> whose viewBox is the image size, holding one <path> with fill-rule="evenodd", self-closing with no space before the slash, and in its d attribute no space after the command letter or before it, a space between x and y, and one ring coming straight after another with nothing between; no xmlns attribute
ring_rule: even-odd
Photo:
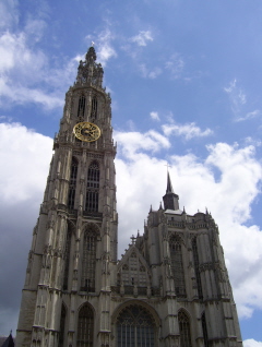
<svg viewBox="0 0 262 347"><path fill-rule="evenodd" d="M195 125L194 122L186 123L186 124L178 124L178 123L169 123L162 125L164 134L167 136L176 135L182 136L186 140L191 140L193 137L203 137L213 134L211 129L205 129L202 131L199 127Z"/></svg>

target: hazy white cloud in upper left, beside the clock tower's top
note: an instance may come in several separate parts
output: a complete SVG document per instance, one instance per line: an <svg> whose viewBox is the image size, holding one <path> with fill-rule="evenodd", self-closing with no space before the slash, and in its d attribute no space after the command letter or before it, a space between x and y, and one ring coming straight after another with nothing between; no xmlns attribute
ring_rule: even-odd
<svg viewBox="0 0 262 347"><path fill-rule="evenodd" d="M27 22L27 33L0 35L0 104L37 103L46 108L63 105L64 85L75 77L76 59L62 61L60 68L52 69L46 55L31 48L31 37L40 37L44 27L40 21ZM37 35L33 35L33 32ZM28 34L31 32L31 34Z"/></svg>

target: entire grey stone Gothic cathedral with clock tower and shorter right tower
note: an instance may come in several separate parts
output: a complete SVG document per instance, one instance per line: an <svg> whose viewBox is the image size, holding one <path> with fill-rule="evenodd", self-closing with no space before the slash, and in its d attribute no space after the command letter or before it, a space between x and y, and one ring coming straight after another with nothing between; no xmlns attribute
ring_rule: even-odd
<svg viewBox="0 0 262 347"><path fill-rule="evenodd" d="M116 145L103 74L91 47L55 136L15 346L241 347L218 227L209 212L179 208L169 174L163 204L118 260Z"/></svg>

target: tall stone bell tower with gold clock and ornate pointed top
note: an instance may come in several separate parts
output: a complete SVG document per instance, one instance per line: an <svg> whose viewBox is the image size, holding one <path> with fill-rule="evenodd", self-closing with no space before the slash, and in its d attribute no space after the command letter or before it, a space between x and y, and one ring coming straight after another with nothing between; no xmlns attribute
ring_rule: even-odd
<svg viewBox="0 0 262 347"><path fill-rule="evenodd" d="M91 47L66 95L55 136L45 196L33 231L16 346L80 346L84 334L93 339L94 321L85 319L85 328L76 336L76 308L82 303L80 316L88 310L94 314L93 307L99 311L97 346L108 342L109 278L117 262L118 217L111 99L103 87L103 74ZM86 301L91 306L84 306Z"/></svg>

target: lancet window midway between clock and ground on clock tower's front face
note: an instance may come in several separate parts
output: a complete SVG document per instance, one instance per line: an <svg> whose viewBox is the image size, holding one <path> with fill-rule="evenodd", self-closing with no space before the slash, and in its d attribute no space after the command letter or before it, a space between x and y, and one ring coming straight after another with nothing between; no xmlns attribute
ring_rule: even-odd
<svg viewBox="0 0 262 347"><path fill-rule="evenodd" d="M96 230L91 226L85 230L82 255L81 290L95 291Z"/></svg>

